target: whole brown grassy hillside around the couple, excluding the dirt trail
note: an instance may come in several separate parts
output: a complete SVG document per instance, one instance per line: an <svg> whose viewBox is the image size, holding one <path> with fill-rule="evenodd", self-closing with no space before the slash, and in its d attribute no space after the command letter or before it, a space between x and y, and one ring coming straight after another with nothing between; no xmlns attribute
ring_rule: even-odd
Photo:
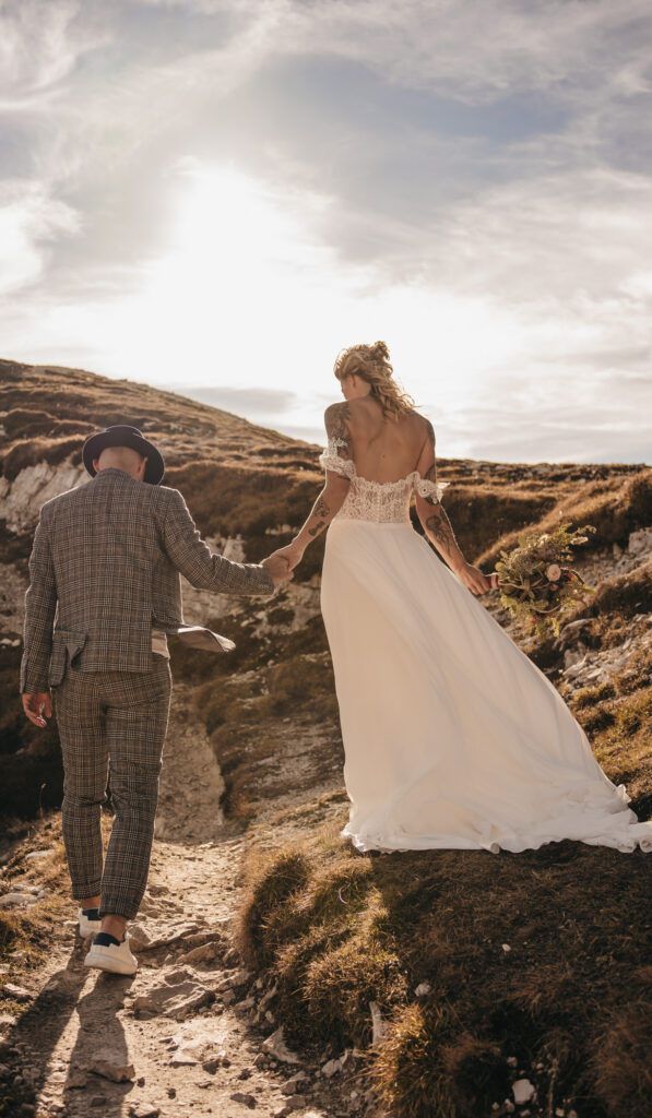
<svg viewBox="0 0 652 1118"><path fill-rule="evenodd" d="M161 446L166 482L200 530L240 534L248 560L285 542L320 485L316 447L236 416L79 370L0 362L0 520L30 467L45 465L45 476L78 463L83 437L112 423ZM441 458L438 475L451 482L445 504L464 553L485 570L522 530L596 527L578 561L596 594L559 637L527 637L499 604L485 605L649 817L652 470ZM30 500L36 517L38 487ZM6 582L25 574L31 534L29 523L2 532ZM532 1118L651 1118L652 858L569 842L520 855L375 856L339 837L347 802L328 646L316 609L301 613L314 606L322 546L296 587L220 617L237 642L231 656L181 660L173 650L176 679L195 689L220 761L230 822L249 843L238 937L263 988L277 987L275 1023L320 1053L356 1046L368 1118L501 1118L519 1076L537 1089L520 1109ZM0 624L10 642L0 645L0 813L27 816L39 803L58 806L60 771L56 730L34 730L18 705L10 606ZM299 740L286 741L285 723ZM283 754L293 746L303 757ZM370 1002L388 1031L378 1049Z"/></svg>

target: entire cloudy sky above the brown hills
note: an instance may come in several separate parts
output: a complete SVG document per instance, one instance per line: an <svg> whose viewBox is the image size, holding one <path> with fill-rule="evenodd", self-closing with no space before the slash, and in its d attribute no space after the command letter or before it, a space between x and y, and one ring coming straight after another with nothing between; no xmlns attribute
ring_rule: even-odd
<svg viewBox="0 0 652 1118"><path fill-rule="evenodd" d="M649 0L0 0L0 356L651 462Z"/></svg>

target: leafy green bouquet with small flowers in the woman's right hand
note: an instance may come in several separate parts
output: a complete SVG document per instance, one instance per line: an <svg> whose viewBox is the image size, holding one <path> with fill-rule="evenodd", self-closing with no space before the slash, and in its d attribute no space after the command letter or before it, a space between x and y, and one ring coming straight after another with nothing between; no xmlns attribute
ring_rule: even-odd
<svg viewBox="0 0 652 1118"><path fill-rule="evenodd" d="M529 633L547 636L550 631L559 635L559 619L577 601L586 601L587 594L595 594L568 562L571 548L586 543L583 532L595 532L593 524L569 531L570 523L560 524L554 532L542 536L519 536L519 546L495 563L500 600L510 613L523 623Z"/></svg>

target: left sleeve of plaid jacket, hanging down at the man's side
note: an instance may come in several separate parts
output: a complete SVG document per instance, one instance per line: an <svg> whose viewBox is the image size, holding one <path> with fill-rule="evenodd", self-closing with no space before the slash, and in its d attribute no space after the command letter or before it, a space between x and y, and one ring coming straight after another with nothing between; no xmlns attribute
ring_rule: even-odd
<svg viewBox="0 0 652 1118"><path fill-rule="evenodd" d="M29 557L29 589L25 596L21 693L42 694L49 690L48 673L56 609L55 569L47 525L41 515Z"/></svg>

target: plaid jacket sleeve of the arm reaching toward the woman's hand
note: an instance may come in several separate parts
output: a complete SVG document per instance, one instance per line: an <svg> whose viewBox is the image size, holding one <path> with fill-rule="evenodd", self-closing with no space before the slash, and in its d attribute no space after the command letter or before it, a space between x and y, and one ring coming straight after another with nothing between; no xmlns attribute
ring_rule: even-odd
<svg viewBox="0 0 652 1118"><path fill-rule="evenodd" d="M163 547L191 586L220 594L272 594L274 581L259 563L233 562L204 542L181 493L171 490L163 524Z"/></svg>

